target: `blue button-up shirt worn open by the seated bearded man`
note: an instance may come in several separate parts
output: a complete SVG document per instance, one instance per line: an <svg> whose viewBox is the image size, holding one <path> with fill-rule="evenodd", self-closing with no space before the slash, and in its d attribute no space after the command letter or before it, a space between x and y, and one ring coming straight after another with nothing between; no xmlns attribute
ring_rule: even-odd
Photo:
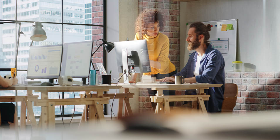
<svg viewBox="0 0 280 140"><path fill-rule="evenodd" d="M190 55L186 66L175 75L182 75L185 78L194 77L198 53L195 51ZM212 48L209 44L203 58L200 61L199 75L195 76L196 82L223 84L221 87L210 87L206 94L210 95L209 101L204 101L208 112L220 112L224 100L225 91L225 60L219 50ZM195 94L195 93L193 93Z"/></svg>

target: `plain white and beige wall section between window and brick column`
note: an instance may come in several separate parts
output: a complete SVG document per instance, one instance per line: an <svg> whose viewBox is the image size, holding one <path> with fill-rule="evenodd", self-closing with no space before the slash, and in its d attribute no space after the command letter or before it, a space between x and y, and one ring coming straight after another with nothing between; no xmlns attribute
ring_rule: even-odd
<svg viewBox="0 0 280 140"><path fill-rule="evenodd" d="M106 3L106 39L109 42L125 41L128 37L129 40L134 40L134 23L138 16L138 1L136 0L107 0ZM112 70L111 79L118 79L119 74L117 69L117 60L115 49L107 53L106 56L107 72ZM114 80L113 82L117 82ZM120 83L123 82L121 79ZM117 93L124 92L123 89L117 90ZM134 93L134 98L129 99L130 106L133 113L138 113L139 110L139 90L130 89L129 92ZM110 90L108 93L116 93L116 90ZM112 104L112 99L110 99ZM114 100L113 112L115 115L118 113L119 99ZM110 105L107 105L107 114L111 114Z"/></svg>

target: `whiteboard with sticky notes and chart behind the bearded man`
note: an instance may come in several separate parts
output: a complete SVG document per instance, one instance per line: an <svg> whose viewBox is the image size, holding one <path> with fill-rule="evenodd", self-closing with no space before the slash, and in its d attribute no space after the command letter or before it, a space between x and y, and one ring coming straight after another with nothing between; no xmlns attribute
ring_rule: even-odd
<svg viewBox="0 0 280 140"><path fill-rule="evenodd" d="M220 50L220 52L222 53L224 60L225 60L225 71L227 71L227 72L233 71L232 61L236 61L237 19L229 19L229 20L221 20L221 21L207 21L207 22L202 22L202 23L205 25L207 25L207 24L212 25L211 31L209 31L210 43L214 43L214 41L227 42L227 40L228 40L228 48L227 48L228 52L226 53L226 50L222 50L222 51ZM188 37L188 31L190 28L190 24L191 23L187 23L186 38ZM232 24L233 30L221 31L223 24ZM225 42L224 42L224 44L226 44ZM188 47L188 42L186 41L184 65L187 64L190 54L195 51L195 50L189 51L187 49L187 47Z"/></svg>

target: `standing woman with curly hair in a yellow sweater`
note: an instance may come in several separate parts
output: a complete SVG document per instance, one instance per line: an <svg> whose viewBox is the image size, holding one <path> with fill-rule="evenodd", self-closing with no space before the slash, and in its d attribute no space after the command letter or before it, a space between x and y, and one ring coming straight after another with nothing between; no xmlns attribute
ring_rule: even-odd
<svg viewBox="0 0 280 140"><path fill-rule="evenodd" d="M136 19L134 40L146 39L151 65L151 72L143 73L143 75L151 75L156 79L162 79L177 73L175 66L168 58L169 38L159 33L162 30L163 16L156 9L145 9ZM135 82L136 76L137 74L133 73L130 82ZM149 90L149 93L151 92L153 91Z"/></svg>

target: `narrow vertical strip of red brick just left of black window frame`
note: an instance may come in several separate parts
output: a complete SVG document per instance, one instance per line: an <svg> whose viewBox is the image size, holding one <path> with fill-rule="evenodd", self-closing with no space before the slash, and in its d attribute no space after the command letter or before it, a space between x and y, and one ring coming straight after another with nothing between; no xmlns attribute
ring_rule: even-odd
<svg viewBox="0 0 280 140"><path fill-rule="evenodd" d="M92 24L103 25L103 0L92 0ZM92 26L92 40L94 52L97 46L102 43L102 41L96 41L98 39L103 39L103 27ZM103 47L100 47L97 52L93 55L93 65L95 67L96 63L103 63Z"/></svg>

